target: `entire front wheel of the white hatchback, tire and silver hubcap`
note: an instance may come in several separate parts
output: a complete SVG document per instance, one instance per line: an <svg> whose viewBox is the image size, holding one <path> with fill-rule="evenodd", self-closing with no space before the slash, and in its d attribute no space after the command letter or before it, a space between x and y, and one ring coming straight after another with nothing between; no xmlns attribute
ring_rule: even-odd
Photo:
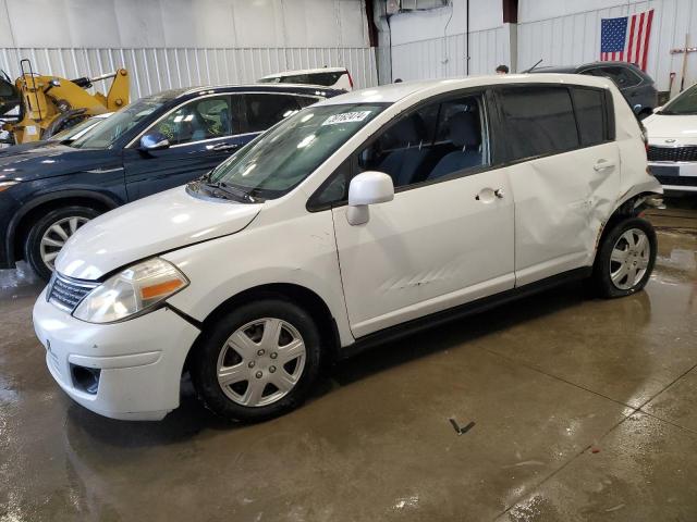
<svg viewBox="0 0 697 522"><path fill-rule="evenodd" d="M204 333L192 381L218 415L261 421L302 403L319 368L313 319L290 301L265 299L234 309Z"/></svg>

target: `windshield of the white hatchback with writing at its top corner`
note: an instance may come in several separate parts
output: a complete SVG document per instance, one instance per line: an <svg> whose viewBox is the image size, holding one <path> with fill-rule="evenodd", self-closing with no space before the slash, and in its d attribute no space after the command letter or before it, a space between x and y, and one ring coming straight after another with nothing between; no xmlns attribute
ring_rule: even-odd
<svg viewBox="0 0 697 522"><path fill-rule="evenodd" d="M205 185L265 199L283 196L387 107L387 103L309 107L220 164Z"/></svg>

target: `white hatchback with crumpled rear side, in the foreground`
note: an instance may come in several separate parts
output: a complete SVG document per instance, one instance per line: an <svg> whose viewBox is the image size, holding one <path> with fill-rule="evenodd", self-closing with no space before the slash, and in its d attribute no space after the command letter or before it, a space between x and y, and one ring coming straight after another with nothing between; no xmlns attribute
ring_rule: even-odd
<svg viewBox="0 0 697 522"><path fill-rule="evenodd" d="M161 419L203 401L260 420L323 363L574 277L644 287L661 194L611 80L402 83L308 107L205 178L66 243L34 308L77 402Z"/></svg>

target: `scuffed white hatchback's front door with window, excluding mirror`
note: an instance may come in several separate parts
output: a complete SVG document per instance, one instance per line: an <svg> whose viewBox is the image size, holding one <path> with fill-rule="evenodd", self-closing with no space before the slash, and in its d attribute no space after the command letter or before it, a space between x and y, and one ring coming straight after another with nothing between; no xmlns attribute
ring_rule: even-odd
<svg viewBox="0 0 697 522"><path fill-rule="evenodd" d="M386 172L396 189L363 225L332 210L356 337L513 287L513 199L485 98L427 104L354 157L354 172Z"/></svg>

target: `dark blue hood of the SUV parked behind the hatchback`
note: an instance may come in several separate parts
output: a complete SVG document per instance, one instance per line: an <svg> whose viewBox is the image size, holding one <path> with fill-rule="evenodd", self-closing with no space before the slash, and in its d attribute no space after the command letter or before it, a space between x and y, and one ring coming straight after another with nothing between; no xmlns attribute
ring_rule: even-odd
<svg viewBox="0 0 697 522"><path fill-rule="evenodd" d="M20 147L15 152L0 154L0 181L21 178L30 182L97 169L105 156L110 153L106 149L73 149L52 142Z"/></svg>

